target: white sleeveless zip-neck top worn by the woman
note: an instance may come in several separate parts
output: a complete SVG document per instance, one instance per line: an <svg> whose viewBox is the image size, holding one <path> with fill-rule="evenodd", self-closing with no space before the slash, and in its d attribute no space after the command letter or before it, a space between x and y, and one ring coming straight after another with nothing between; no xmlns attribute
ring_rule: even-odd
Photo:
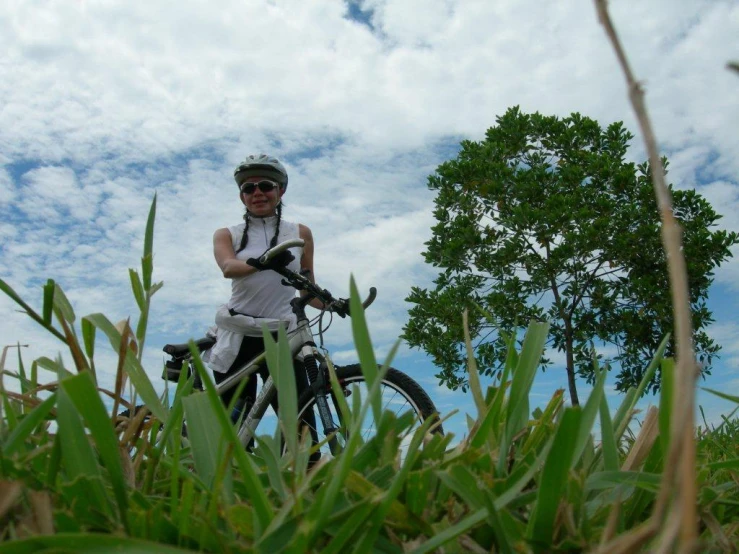
<svg viewBox="0 0 739 554"><path fill-rule="evenodd" d="M246 262L249 258L258 258L270 247L270 241L275 234L277 216L252 217L249 221L249 241L246 248L236 254L239 260ZM234 252L241 246L241 237L244 234L244 223L229 227ZM296 223L280 222L280 235L277 243L290 239L300 238L300 230ZM291 248L290 252L295 259L287 266L295 272L300 271L302 248ZM237 277L231 280L231 299L228 307L241 314L252 317L275 318L285 321L293 319L290 300L295 298L297 291L282 284L282 276L274 271L258 271L246 277Z"/></svg>

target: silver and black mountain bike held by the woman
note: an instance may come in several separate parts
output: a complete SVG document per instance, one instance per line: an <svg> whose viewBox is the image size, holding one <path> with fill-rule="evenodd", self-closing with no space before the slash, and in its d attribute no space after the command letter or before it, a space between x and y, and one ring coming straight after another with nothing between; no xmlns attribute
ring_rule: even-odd
<svg viewBox="0 0 739 554"><path fill-rule="evenodd" d="M266 264L284 250L292 247L302 247L303 244L301 239L285 241L265 252L259 261ZM309 428L314 445L322 444L324 447L327 446L330 454L335 456L341 450L343 444L345 444L347 429L342 425L343 421L339 404L331 388L329 364L332 364L332 362L330 361L330 354L323 347L323 333L328 329L328 326L326 329L323 328L323 317L326 313L331 312L327 312L324 309L314 322L311 322L305 313L305 307L313 298L318 298L323 302L325 307L335 306L339 302L344 302L343 305L347 308L346 315L351 316L351 313L349 313L348 305L345 301L334 298L328 290L322 289L312 283L306 275L296 273L287 268L273 268L272 271L277 271L283 277L283 285L292 286L299 291L304 291L302 296L296 297L291 301L293 313L297 317L297 327L289 333L288 337L295 371L305 371L308 378L308 387L305 390L298 390L298 421L300 425ZM365 309L374 302L376 295L377 290L372 287L369 296L362 303ZM316 346L316 337L312 329L312 325L314 326L316 322L319 324L320 348ZM204 352L213 347L215 339L206 337L195 341L195 344L200 352ZM187 364L188 376L193 375L195 378L195 388L202 390L202 383L199 382L197 372L192 365L193 360L189 344L167 344L163 350L171 356L171 359L166 362L162 377L168 381L177 381L183 366ZM341 394L345 397L357 391L358 385L364 384L366 386L365 378L359 364L333 367L335 367ZM256 373L262 373L264 375L265 368L266 355L262 352L246 362L233 375L221 381L221 383L216 384L218 395L221 396L226 391L238 387L242 381L252 377ZM393 407L396 416L401 416L411 411L414 414L417 425L420 425L427 418L438 418L436 407L426 391L405 373L394 368L388 369L382 377L380 388L383 411L390 406ZM359 392L361 395L362 391ZM251 449L259 423L262 421L269 406L273 405L276 395L277 390L272 376L268 376L264 380L253 404L248 406L243 418L240 420L238 437L245 448ZM311 421L313 424L311 424ZM315 422L320 422L322 425L323 436L326 437L323 441L319 441L318 439L319 430ZM374 430L373 426L365 428L364 422L362 428L364 429L363 435L365 439ZM437 421L433 424L431 432L443 434L441 422Z"/></svg>

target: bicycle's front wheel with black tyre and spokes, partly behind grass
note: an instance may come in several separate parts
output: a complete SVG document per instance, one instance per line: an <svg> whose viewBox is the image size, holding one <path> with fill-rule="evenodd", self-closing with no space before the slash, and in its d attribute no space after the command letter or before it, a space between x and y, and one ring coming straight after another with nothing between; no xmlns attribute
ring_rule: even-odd
<svg viewBox="0 0 739 554"><path fill-rule="evenodd" d="M354 395L359 395L362 401L368 397L369 388L359 364L336 367L336 377L350 409L354 404L354 399L352 398ZM436 407L429 395L426 394L426 391L416 381L397 369L388 369L383 377L380 384L380 398L383 412L389 410L396 417L404 416L408 412L413 414L413 425L405 430L404 436L401 437L401 451L424 420L432 417L438 418ZM348 430L341 417L339 405L333 391L328 394L328 405L333 423L338 428L335 439L338 441L339 447L343 448L348 439ZM313 413L313 417L310 416L310 412ZM302 426L308 425L306 421L315 421L318 429L310 429L314 440L316 437L319 440L326 438L322 419L316 407L316 399L311 390L305 391L298 401L298 417ZM432 432L443 434L444 431L441 425L437 425ZM377 423L374 420L372 410L369 410L362 421L361 433L365 442L377 434ZM334 446L336 446L336 443L334 443ZM329 445L324 444L321 448L321 456L332 454Z"/></svg>

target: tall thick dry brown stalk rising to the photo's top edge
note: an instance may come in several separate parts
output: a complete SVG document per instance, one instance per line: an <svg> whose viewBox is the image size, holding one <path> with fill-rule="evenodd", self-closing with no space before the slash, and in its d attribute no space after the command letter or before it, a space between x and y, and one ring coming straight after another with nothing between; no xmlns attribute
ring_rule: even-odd
<svg viewBox="0 0 739 554"><path fill-rule="evenodd" d="M694 410L695 380L697 364L693 351L693 329L688 292L687 269L682 253L682 229L672 212L670 191L665 181L664 168L657 149L657 141L647 115L644 91L634 78L626 54L619 41L608 13L606 0L595 0L598 19L605 28L623 69L629 88L629 98L644 136L649 163L652 170L657 206L662 219L662 244L667 255L672 306L675 317L675 340L677 350L677 374L674 390L673 413L671 414L670 450L665 462L660 494L655 504L653 517L659 522L666 510L670 519L677 518L680 525L666 526L662 543L679 543L680 550L691 548L697 540ZM676 491L676 502L671 502ZM679 535L679 540L678 540Z"/></svg>

